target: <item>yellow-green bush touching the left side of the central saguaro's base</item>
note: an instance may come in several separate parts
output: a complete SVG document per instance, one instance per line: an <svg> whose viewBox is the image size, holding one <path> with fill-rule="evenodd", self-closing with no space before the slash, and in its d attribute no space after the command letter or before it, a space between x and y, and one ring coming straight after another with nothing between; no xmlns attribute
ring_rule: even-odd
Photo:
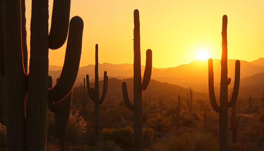
<svg viewBox="0 0 264 151"><path fill-rule="evenodd" d="M104 128L101 134L106 141L114 141L115 144L120 145L122 148L129 149L133 147L134 132L131 126L118 129Z"/></svg>

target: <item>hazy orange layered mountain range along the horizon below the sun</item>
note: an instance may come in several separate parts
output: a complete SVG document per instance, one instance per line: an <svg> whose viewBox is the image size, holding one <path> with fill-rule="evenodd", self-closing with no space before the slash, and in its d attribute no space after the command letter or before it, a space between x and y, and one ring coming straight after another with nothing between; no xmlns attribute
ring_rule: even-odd
<svg viewBox="0 0 264 151"><path fill-rule="evenodd" d="M220 86L220 73L221 64L219 59L213 59L215 87ZM264 80L261 76L257 76L257 73L264 74L264 58L248 62L240 60L240 87L248 87L252 85L261 85L261 81ZM228 60L228 77L234 80L235 75L235 60ZM143 77L145 66L141 65L141 73ZM49 66L49 75L54 78L60 76L62 66ZM110 63L103 63L98 65L99 79L103 80L103 72L107 71L109 78L126 79L133 78L133 64L120 64L114 65ZM90 82L94 81L94 65L87 65L79 68L79 73L76 79L75 86L79 86L83 82L83 78L86 78L86 74L90 76ZM244 82L243 78L250 78L253 76L250 83ZM151 79L156 81L175 84L184 88L192 87L194 91L208 93L208 63L206 61L195 60L192 63L179 65L174 68L152 68ZM247 81L247 80L245 80ZM264 83L264 82L263 82ZM246 85L247 84L247 85ZM263 84L262 84L263 85ZM232 88L233 84L229 85ZM264 88L261 90L263 91Z"/></svg>

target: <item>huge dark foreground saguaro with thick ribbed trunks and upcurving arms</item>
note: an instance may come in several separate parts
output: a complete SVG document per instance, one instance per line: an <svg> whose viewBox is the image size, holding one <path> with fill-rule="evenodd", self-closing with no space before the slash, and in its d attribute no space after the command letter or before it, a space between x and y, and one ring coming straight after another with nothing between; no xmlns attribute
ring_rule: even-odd
<svg viewBox="0 0 264 151"><path fill-rule="evenodd" d="M46 150L47 102L60 101L70 93L80 64L83 21L73 17L69 24L70 1L54 1L50 32L48 0L32 1L31 8L27 73L25 0L1 1L0 5L0 31L4 33L0 35L0 73L6 84L7 150ZM67 35L60 80L48 90L49 48L60 48Z"/></svg>

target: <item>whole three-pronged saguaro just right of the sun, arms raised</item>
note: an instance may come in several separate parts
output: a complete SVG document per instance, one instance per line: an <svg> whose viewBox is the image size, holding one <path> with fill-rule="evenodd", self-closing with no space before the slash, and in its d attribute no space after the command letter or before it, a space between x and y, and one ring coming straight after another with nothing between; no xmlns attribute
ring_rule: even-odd
<svg viewBox="0 0 264 151"><path fill-rule="evenodd" d="M234 106L237 101L239 82L240 82L240 61L235 63L235 83L233 94L230 102L228 102L228 85L231 78L227 77L227 16L223 16L222 20L222 59L221 59L221 79L220 79L220 106L218 106L215 98L214 88L214 71L213 61L208 60L208 86L209 98L213 109L219 113L219 139L220 151L227 150L227 133L228 133L228 108Z"/></svg>

